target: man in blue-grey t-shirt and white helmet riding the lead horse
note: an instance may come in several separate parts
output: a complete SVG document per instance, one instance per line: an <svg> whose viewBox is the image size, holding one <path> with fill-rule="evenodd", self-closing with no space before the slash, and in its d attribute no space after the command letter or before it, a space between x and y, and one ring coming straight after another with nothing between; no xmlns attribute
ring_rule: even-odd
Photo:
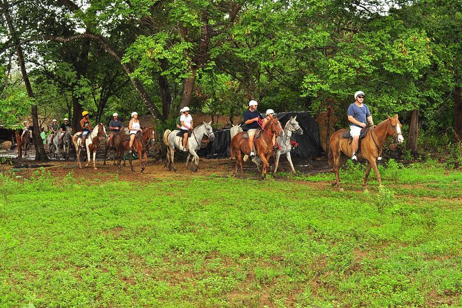
<svg viewBox="0 0 462 308"><path fill-rule="evenodd" d="M361 133L361 129L367 127L366 122L368 122L371 126L374 126L374 122L372 121L372 115L369 111L369 107L367 107L364 102L364 92L358 91L354 93L354 103L349 105L348 107L348 121L349 121L349 133L353 137L352 141L352 160L357 161L358 156L356 155L356 151L358 151L358 141L359 136ZM378 157L378 160L381 160L382 157Z"/></svg>

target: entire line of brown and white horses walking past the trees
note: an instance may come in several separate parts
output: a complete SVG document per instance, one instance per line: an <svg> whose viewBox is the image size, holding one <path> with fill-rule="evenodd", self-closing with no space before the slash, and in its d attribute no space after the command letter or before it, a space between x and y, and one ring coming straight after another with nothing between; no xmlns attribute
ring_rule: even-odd
<svg viewBox="0 0 462 308"><path fill-rule="evenodd" d="M276 142L278 148L275 151L274 157L274 170L273 173L276 173L279 166L280 155L286 155L287 160L291 166L291 171L295 173L295 168L291 160L290 151L293 148L293 145L296 142L293 142L293 135L302 135L303 130L298 124L297 117L291 117L289 121L285 124L285 127L282 128L279 119L273 117L265 124L261 126L261 130L256 133L256 137L253 142L254 150L256 152L256 157L253 157L252 161L256 164L258 171L261 172L261 177L264 178L269 170L269 158L273 153L273 136L276 135ZM394 117L388 116L385 121L381 122L377 126L365 128L367 133L364 137L361 137L359 146L358 146L358 158L363 158L367 160L368 164L366 167L365 177L363 178L363 187L365 188L367 177L371 169L374 169L376 173L377 181L379 186L381 186L381 175L378 172L377 168L377 157L379 157L383 151L383 146L385 145L388 137L393 137L394 141L398 144L401 144L404 140L403 134L401 133L401 123L399 122L398 115ZM338 189L342 190L340 185L339 170L340 166L345 164L345 162L352 156L352 146L351 138L348 137L349 131L345 128L336 131L331 135L329 139L329 151L328 151L328 162L334 167L334 173L336 175L336 180L332 183L333 186L338 186ZM76 149L77 164L79 168L82 168L81 164L81 153L85 150L87 156L87 163L91 162L91 154L93 154L93 168L96 167L96 152L99 148L99 138L106 139L106 151L104 153L104 165L106 165L106 157L110 148L113 148L114 151L114 164L118 166L120 170L120 164L123 157L126 157L126 153L130 150L130 139L128 135L128 128L122 128L117 132L113 137L113 142L108 144L108 135L106 134L106 128L104 124L100 123L90 134L86 137L84 146L81 146L81 132L75 133L72 135L70 128L66 130L62 138L62 147L64 149L64 156L69 157L69 148L70 142L72 141ZM177 171L175 167L174 157L175 149L183 151L182 147L182 135L180 131L170 131L166 130L163 134L162 141L166 146L166 167L169 170L173 169ZM191 159L191 170L197 171L199 166L199 156L198 150L203 146L204 140L207 142L213 141L215 135L213 134L213 129L211 127L211 122L203 122L200 126L196 127L189 133L189 138L187 142L186 152L186 169L189 166L189 160ZM242 128L238 125L233 125L231 128L231 146L230 146L230 155L231 159L235 159L235 175L240 169L242 175L244 175L243 163L247 161L251 148L249 147L247 132L242 131ZM134 153L137 153L139 157L139 164L141 167L141 173L143 173L147 164L147 149L149 144L153 144L155 141L154 129L151 126L143 128L142 131L137 133L135 140L133 142L132 150ZM25 150L27 151L27 145L30 143L30 135L25 134L25 141L23 142ZM54 153L55 156L59 155L59 134L49 140L50 144L50 153ZM133 169L132 164L132 155L128 155L131 171ZM144 160L143 160L144 158ZM117 162L116 162L117 161ZM125 164L125 163L124 163Z"/></svg>

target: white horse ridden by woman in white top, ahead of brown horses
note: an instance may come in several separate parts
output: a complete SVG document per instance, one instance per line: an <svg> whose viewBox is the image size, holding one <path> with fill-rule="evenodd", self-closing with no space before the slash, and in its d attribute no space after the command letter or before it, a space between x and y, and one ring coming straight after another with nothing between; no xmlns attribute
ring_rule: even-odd
<svg viewBox="0 0 462 308"><path fill-rule="evenodd" d="M213 128L211 126L212 122L206 123L202 122L202 124L193 129L193 133L188 135L188 157L186 157L186 169L188 168L189 158L191 155L193 159L191 162L194 163L195 169L193 171L198 171L199 169L199 156L196 153L200 149L201 141L204 137L208 137L210 141L215 139L215 135L213 135ZM164 144L167 148L166 153L166 161L169 170L173 168L173 171L177 171L175 167L175 148L178 150L182 150L182 139L183 137L177 136L177 133L180 132L178 130L170 131L167 129L164 131L164 136L162 139L164 140Z"/></svg>

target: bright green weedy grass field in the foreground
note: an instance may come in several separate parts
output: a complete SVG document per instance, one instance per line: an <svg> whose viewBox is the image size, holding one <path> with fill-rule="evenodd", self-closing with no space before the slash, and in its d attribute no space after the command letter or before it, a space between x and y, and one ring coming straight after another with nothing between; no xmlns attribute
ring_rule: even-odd
<svg viewBox="0 0 462 308"><path fill-rule="evenodd" d="M461 172L381 172L1 173L0 307L462 307Z"/></svg>

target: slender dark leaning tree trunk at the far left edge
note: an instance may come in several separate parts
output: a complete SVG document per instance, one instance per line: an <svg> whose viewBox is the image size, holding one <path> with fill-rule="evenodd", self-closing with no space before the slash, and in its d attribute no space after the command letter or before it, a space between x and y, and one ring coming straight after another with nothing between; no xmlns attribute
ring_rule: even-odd
<svg viewBox="0 0 462 308"><path fill-rule="evenodd" d="M2 1L3 4L3 15L5 15L6 22L8 23L8 29L10 30L10 35L15 42L15 49L18 56L19 67L21 68L21 74L23 76L24 85L28 96L30 98L34 97L34 92L32 91L32 86L30 85L28 73L26 70L26 64L24 62L23 50L21 48L21 43L19 42L19 36L17 35L15 26L13 25L11 16L10 16L10 5L8 1ZM35 160L46 161L48 157L45 153L44 142L40 137L40 128L39 128L39 113L37 111L37 104L32 102L31 107L32 114L32 142L35 147Z"/></svg>

